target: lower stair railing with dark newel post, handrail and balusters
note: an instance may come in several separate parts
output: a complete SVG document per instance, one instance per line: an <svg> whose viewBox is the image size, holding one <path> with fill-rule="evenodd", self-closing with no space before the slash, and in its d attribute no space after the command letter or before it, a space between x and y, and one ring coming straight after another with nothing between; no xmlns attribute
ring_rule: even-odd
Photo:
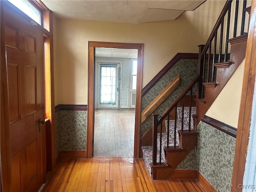
<svg viewBox="0 0 256 192"><path fill-rule="evenodd" d="M174 126L174 148L176 148L176 120L177 120L177 105L178 103L186 96L186 94L190 91L190 114L191 114L191 100L192 100L192 89L196 85L196 83L199 80L199 75L197 75L192 82L182 91L182 93L170 104L170 106L164 111L162 116L158 119L158 114L152 114L153 116L153 140L152 140L152 157L153 157L153 165L156 165L157 162L157 132L158 132L158 126L161 125L160 128L160 146L162 146L162 122L166 117L168 117L168 129L167 129L167 148L169 147L169 118L170 118L170 112L176 108L175 110L175 126ZM184 100L183 100L183 106L182 106L182 116L184 113ZM182 123L182 131L183 131L183 123ZM190 119L189 119L189 131L190 131ZM161 163L161 147L160 147L160 155L159 155L159 162Z"/></svg>

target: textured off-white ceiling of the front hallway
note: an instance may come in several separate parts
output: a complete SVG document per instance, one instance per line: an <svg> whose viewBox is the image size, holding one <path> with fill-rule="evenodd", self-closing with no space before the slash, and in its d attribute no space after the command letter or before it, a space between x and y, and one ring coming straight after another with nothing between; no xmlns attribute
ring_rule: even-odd
<svg viewBox="0 0 256 192"><path fill-rule="evenodd" d="M41 0L57 18L143 23L174 20L205 0Z"/></svg>

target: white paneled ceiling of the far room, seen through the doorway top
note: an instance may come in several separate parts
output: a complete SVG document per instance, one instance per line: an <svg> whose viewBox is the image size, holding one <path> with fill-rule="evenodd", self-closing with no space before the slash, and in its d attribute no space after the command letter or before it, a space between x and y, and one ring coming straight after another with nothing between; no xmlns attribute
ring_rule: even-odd
<svg viewBox="0 0 256 192"><path fill-rule="evenodd" d="M137 49L95 48L96 57L137 58Z"/></svg>

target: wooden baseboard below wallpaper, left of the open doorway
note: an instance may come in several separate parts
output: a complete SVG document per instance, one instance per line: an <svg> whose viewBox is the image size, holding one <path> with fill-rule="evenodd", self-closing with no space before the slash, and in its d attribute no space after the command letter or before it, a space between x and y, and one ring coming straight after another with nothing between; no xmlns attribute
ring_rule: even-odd
<svg viewBox="0 0 256 192"><path fill-rule="evenodd" d="M56 157L56 163L60 159L86 158L86 150L62 150Z"/></svg>

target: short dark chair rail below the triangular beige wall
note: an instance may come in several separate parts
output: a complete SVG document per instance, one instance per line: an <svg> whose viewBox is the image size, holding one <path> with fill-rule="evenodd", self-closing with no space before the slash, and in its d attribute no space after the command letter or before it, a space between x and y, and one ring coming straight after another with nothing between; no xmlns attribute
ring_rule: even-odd
<svg viewBox="0 0 256 192"><path fill-rule="evenodd" d="M211 118L207 115L204 115L201 119L202 122L205 122L207 124L209 124L210 126L213 126L215 127L216 129L218 130L221 130L222 132L236 138L236 132L237 132L237 129L233 126L230 126L226 123L223 123L221 121L218 121L214 118Z"/></svg>

